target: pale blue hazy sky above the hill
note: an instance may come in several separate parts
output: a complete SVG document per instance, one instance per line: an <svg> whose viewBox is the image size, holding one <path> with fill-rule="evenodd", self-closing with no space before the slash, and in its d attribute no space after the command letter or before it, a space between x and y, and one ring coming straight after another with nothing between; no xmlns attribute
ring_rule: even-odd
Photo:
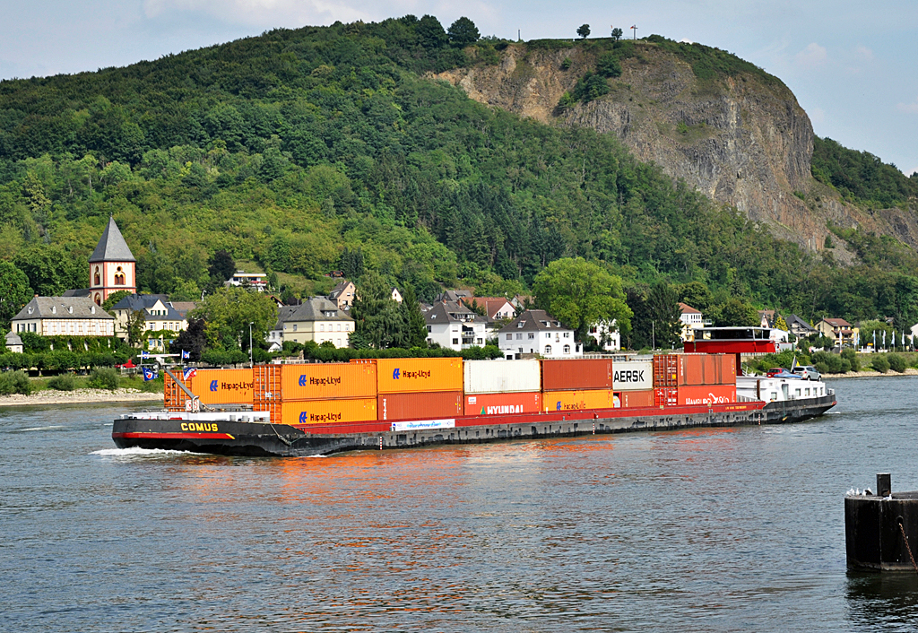
<svg viewBox="0 0 918 633"><path fill-rule="evenodd" d="M459 8L461 7L461 8ZM277 27L460 16L482 35L594 36L610 25L736 53L781 78L816 134L918 170L918 2L878 0L0 0L0 78L94 71Z"/></svg>

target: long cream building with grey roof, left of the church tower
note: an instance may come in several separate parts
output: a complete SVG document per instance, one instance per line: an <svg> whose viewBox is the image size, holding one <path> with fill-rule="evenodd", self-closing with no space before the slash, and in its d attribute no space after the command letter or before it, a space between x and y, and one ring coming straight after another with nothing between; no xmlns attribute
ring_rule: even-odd
<svg viewBox="0 0 918 633"><path fill-rule="evenodd" d="M90 297L35 297L10 322L11 332L41 336L114 336L115 317Z"/></svg>

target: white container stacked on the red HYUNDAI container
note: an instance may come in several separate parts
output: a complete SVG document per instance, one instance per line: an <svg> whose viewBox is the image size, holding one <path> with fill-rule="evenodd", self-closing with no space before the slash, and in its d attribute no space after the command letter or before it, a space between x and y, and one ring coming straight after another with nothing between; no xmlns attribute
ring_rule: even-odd
<svg viewBox="0 0 918 633"><path fill-rule="evenodd" d="M542 411L538 360L468 360L463 371L465 415Z"/></svg>

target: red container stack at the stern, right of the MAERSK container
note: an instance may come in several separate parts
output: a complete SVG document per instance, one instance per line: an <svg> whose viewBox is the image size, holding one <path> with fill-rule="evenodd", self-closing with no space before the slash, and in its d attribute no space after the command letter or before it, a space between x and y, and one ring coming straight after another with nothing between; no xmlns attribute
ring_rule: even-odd
<svg viewBox="0 0 918 633"><path fill-rule="evenodd" d="M656 406L711 405L736 401L733 354L654 356Z"/></svg>

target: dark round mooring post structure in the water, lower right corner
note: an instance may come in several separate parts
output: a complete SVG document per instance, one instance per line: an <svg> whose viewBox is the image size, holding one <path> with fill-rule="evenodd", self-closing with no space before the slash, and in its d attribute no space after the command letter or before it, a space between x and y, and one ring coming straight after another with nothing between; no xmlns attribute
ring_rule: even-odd
<svg viewBox="0 0 918 633"><path fill-rule="evenodd" d="M890 473L877 475L877 494L845 495L849 570L918 573L918 492L892 492Z"/></svg>

